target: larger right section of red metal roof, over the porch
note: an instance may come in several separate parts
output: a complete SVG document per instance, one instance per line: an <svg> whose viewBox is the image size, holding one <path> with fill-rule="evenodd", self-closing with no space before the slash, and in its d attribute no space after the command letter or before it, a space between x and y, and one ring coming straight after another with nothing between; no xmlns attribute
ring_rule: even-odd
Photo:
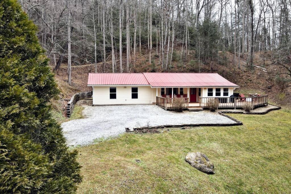
<svg viewBox="0 0 291 194"><path fill-rule="evenodd" d="M217 73L143 73L152 87L238 87Z"/></svg>

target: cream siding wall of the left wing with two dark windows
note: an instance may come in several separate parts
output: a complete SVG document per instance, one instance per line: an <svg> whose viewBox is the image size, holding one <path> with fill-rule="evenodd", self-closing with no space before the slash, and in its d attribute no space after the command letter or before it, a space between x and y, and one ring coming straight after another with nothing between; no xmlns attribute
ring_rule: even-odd
<svg viewBox="0 0 291 194"><path fill-rule="evenodd" d="M110 99L109 88L116 87L116 99ZM93 86L94 105L152 104L156 102L156 88L150 86ZM132 87L138 88L138 98L132 99Z"/></svg>

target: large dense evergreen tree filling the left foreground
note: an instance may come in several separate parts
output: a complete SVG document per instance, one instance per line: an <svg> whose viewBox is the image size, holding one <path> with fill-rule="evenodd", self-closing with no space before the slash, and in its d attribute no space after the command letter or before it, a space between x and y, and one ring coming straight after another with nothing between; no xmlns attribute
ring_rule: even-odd
<svg viewBox="0 0 291 194"><path fill-rule="evenodd" d="M36 31L16 0L0 1L0 193L73 193L80 165L49 114L58 90Z"/></svg>

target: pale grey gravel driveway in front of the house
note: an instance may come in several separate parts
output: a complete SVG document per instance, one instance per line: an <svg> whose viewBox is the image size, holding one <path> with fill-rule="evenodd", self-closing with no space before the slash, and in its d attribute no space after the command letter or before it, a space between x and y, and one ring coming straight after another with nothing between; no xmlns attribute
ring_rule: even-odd
<svg viewBox="0 0 291 194"><path fill-rule="evenodd" d="M86 145L97 138L107 138L125 132L125 127L143 127L164 124L235 123L218 113L209 111L176 113L155 105L88 106L86 118L62 124L68 145Z"/></svg>

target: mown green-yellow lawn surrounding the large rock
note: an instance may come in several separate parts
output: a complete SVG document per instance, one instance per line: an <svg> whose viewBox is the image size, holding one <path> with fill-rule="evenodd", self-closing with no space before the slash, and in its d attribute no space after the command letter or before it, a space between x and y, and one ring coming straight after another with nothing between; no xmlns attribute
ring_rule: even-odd
<svg viewBox="0 0 291 194"><path fill-rule="evenodd" d="M291 193L291 111L229 115L244 125L127 133L79 147L78 193ZM216 174L191 167L188 152L205 153Z"/></svg>

